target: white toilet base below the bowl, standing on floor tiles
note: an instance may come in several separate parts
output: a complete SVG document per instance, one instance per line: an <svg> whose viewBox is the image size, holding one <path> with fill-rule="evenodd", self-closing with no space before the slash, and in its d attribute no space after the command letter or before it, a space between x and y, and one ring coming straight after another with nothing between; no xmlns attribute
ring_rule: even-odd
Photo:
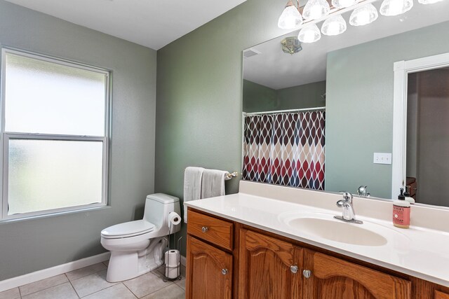
<svg viewBox="0 0 449 299"><path fill-rule="evenodd" d="M132 279L163 265L163 249L166 238L150 239L149 246L142 251L111 251L106 280L118 282Z"/></svg>

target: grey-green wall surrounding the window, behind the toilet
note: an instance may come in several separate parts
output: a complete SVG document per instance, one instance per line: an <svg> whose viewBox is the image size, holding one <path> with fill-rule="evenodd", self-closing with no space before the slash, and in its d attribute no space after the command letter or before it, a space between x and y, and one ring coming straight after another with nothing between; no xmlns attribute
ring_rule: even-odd
<svg viewBox="0 0 449 299"><path fill-rule="evenodd" d="M105 252L154 192L156 51L0 0L0 43L112 70L109 207L0 223L0 280Z"/></svg>

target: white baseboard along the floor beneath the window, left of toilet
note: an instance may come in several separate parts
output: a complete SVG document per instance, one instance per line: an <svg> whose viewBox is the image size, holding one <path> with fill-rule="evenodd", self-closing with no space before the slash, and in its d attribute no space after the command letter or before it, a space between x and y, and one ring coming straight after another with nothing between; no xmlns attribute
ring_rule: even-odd
<svg viewBox="0 0 449 299"><path fill-rule="evenodd" d="M55 267L50 267L47 269L28 273L18 277L5 279L0 281L0 292L9 290L10 288L23 286L24 284L31 284L32 282L39 281L41 279L46 279L48 277L53 277L55 275L63 274L65 272L77 270L82 267L87 267L96 263L101 263L104 262L105 260L109 260L109 256L111 256L111 253L108 251L105 253L100 253L96 256L81 258L81 260L74 260L73 262L57 265Z"/></svg>

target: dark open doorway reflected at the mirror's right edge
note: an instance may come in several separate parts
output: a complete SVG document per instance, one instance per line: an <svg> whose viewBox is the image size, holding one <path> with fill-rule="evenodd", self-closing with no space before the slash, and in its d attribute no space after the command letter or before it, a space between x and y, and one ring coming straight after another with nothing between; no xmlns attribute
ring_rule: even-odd
<svg viewBox="0 0 449 299"><path fill-rule="evenodd" d="M449 184L449 68L408 74L406 187L416 202L445 205Z"/></svg>

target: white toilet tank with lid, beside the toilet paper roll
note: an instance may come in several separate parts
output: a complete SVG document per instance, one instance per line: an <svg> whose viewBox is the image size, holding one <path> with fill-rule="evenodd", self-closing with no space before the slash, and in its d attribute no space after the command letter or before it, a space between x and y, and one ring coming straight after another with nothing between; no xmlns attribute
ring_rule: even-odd
<svg viewBox="0 0 449 299"><path fill-rule="evenodd" d="M147 195L145 201L144 219L156 225L157 228L167 228L166 224L170 211L180 214L180 199L164 193Z"/></svg>

